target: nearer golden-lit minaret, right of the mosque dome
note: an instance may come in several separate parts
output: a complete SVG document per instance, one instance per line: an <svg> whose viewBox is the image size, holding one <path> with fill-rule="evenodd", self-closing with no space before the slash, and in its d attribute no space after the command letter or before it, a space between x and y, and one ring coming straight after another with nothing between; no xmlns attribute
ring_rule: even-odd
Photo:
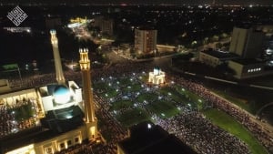
<svg viewBox="0 0 273 154"><path fill-rule="evenodd" d="M80 68L82 72L83 79L83 98L85 107L85 121L87 127L87 133L89 139L94 139L97 136L97 120L95 117L95 104L93 100L93 91L91 85L91 75L90 75L90 60L88 58L88 49L79 49L80 54Z"/></svg>

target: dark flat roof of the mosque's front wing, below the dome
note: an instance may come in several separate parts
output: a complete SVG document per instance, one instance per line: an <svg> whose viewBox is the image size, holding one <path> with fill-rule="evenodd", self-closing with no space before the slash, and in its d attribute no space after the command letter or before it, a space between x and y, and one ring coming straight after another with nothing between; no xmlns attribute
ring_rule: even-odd
<svg viewBox="0 0 273 154"><path fill-rule="evenodd" d="M47 115L45 119L41 119L42 126L25 129L1 138L0 153L38 143L46 139L55 138L75 128L81 127L84 124L81 109L78 107L71 107L70 109L72 109L74 111L73 114L75 114L71 118L58 119L54 113L51 113Z"/></svg>

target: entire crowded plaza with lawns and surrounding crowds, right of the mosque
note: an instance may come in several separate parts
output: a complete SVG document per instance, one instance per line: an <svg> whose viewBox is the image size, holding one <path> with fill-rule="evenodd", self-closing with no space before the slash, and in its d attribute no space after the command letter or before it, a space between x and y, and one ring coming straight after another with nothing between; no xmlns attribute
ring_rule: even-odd
<svg viewBox="0 0 273 154"><path fill-rule="evenodd" d="M159 87L148 82L148 72L153 66L140 66L143 64L132 63L109 67L106 72L94 70L92 85L98 129L107 141L107 146L96 151L115 153L116 142L126 138L126 129L147 120L175 134L199 153L266 153L263 146L269 148L272 144L248 113L213 95L201 84L167 73L166 84ZM80 83L78 72L68 71L65 76ZM31 83L23 78L23 82L26 86L43 85L54 77L54 74L43 75ZM238 121L244 129L232 123L223 127L225 119L215 122L219 113L229 115L231 121ZM240 133L236 135L225 128ZM243 139L246 134L249 138ZM231 140L234 144L230 146Z"/></svg>

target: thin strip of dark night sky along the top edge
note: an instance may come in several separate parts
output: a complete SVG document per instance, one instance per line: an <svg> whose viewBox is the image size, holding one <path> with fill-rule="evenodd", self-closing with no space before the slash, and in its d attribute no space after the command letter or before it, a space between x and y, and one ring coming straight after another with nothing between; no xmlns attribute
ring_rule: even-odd
<svg viewBox="0 0 273 154"><path fill-rule="evenodd" d="M4 3L89 3L89 4L173 4L203 5L213 0L1 0ZM0 2L0 3L1 3ZM216 0L219 5L273 5L273 0Z"/></svg>

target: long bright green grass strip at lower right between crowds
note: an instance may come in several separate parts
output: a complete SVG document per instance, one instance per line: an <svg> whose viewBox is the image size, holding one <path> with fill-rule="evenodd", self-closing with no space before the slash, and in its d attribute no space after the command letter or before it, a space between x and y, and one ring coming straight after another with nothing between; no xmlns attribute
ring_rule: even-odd
<svg viewBox="0 0 273 154"><path fill-rule="evenodd" d="M252 154L268 154L267 149L258 142L258 139L256 139L247 128L225 112L211 108L203 111L203 113L213 124L225 129L227 132L247 143Z"/></svg>

